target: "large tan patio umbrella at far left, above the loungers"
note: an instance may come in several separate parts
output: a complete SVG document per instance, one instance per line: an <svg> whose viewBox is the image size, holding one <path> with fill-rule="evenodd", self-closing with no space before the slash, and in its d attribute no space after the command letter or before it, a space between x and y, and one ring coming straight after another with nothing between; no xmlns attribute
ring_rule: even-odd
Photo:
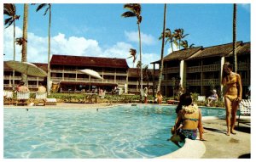
<svg viewBox="0 0 256 162"><path fill-rule="evenodd" d="M20 61L7 61L6 64L13 70L25 75L44 77L47 73L35 64Z"/></svg>

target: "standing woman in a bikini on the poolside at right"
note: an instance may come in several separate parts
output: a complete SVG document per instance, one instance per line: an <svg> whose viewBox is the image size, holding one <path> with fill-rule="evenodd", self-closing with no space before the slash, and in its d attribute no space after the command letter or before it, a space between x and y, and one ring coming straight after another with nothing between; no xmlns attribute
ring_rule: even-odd
<svg viewBox="0 0 256 162"><path fill-rule="evenodd" d="M241 102L241 77L232 71L232 66L226 62L223 67L222 84L225 86L224 102L226 107L227 136L234 131L236 124L236 111Z"/></svg>

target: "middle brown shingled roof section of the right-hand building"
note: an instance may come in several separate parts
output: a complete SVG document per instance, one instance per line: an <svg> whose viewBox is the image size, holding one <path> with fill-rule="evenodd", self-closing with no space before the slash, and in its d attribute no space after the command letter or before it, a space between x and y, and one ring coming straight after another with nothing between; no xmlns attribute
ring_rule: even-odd
<svg viewBox="0 0 256 162"><path fill-rule="evenodd" d="M239 47L241 42L236 42L236 47ZM210 58L216 56L228 56L233 50L233 43L221 44L218 46L204 47L201 53L198 53L189 59L201 59L201 58Z"/></svg>

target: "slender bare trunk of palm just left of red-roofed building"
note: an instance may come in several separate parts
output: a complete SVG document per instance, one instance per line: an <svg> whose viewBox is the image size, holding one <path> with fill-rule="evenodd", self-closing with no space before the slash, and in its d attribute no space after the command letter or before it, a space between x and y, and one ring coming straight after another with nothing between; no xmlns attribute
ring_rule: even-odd
<svg viewBox="0 0 256 162"><path fill-rule="evenodd" d="M51 25L51 5L49 5L49 26L48 26L48 66L47 66L47 94L49 95L49 81L50 81L50 71L49 71L49 58L50 58L50 25Z"/></svg>

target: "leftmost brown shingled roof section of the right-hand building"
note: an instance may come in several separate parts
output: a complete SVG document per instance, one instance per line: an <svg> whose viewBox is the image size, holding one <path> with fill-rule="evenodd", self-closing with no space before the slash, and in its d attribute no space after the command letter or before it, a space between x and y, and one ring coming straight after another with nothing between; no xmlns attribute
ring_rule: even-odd
<svg viewBox="0 0 256 162"><path fill-rule="evenodd" d="M182 60L182 59L188 59L190 56L192 56L193 54L197 53L198 51L201 50L202 47L191 47L189 49L182 49L179 51L174 51L170 54L168 54L165 58L164 61L168 61L168 60ZM154 63L160 63L160 60L155 61L151 64Z"/></svg>

